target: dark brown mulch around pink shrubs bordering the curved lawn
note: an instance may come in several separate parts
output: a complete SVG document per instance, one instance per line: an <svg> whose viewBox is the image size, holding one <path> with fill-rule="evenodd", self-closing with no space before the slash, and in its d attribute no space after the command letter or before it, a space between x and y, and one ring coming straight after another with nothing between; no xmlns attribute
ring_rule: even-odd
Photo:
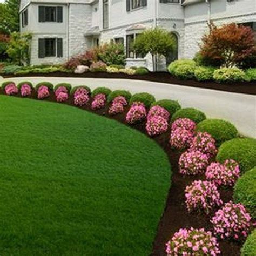
<svg viewBox="0 0 256 256"><path fill-rule="evenodd" d="M0 89L0 95L1 94L4 94L2 89ZM21 95L17 95L15 97L21 97ZM35 90L33 90L29 98L36 99ZM51 96L44 100L50 101L50 102L56 102L54 93L52 92ZM91 102L89 102L86 106L79 107L79 108L84 109L86 111L90 111L95 114L99 114L100 116L106 116L107 118L117 120L118 122L121 122L127 125L127 123L125 122L125 116L127 111L129 110L129 107L126 107L125 112L122 114L117 114L116 116L109 116L109 114L107 113L108 107L105 107L105 109L93 111L90 108L90 103ZM74 106L71 99L69 99L69 101L64 104ZM135 124L135 125L129 125L129 126L147 135L145 130L145 122ZM184 227L202 228L203 227L207 231L212 231L212 225L210 223L210 219L213 216L214 212L216 211L215 209L207 216L206 214L197 213L197 212L188 213L188 211L186 210L185 194L184 194L185 187L188 184L190 184L193 180L204 179L205 177L204 175L197 176L197 177L196 176L187 177L179 174L178 160L181 152L177 152L171 149L169 145L169 136L170 136L170 130L164 134L161 134L160 136L153 138L164 149L164 151L166 152L169 158L169 161L172 167L172 178L171 178L171 187L166 200L165 210L159 221L156 238L153 241L152 254L151 254L152 256L166 255L165 253L166 242L180 228L184 228ZM229 200L232 200L233 190L231 188L225 189L225 190L222 189L220 190L220 194L221 194L221 199L224 202L227 202ZM220 245L221 255L223 256L230 256L231 254L232 256L240 255L240 249L242 246L241 242L237 242L233 240L230 240L230 241L219 240L219 245Z"/></svg>

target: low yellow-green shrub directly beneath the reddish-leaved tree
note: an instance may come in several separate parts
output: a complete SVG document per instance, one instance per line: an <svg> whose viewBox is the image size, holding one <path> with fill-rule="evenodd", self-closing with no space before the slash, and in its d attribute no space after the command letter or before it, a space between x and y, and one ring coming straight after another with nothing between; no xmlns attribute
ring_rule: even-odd
<svg viewBox="0 0 256 256"><path fill-rule="evenodd" d="M217 82L240 82L247 80L245 72L239 68L220 68L214 71L213 79Z"/></svg>

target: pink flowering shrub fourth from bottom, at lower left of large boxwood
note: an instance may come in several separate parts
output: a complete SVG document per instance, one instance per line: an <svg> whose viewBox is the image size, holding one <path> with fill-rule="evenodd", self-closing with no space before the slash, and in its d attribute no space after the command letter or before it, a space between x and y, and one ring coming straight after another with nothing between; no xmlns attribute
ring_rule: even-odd
<svg viewBox="0 0 256 256"><path fill-rule="evenodd" d="M211 163L205 176L218 186L233 186L240 176L239 164L233 159L227 159L224 164Z"/></svg>

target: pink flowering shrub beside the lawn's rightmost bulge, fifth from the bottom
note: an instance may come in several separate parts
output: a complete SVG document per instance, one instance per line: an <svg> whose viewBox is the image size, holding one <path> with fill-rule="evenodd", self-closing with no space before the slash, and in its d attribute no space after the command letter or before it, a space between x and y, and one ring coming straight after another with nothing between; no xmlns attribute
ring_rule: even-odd
<svg viewBox="0 0 256 256"><path fill-rule="evenodd" d="M208 165L208 157L200 151L186 151L179 158L179 172L186 175L201 174Z"/></svg>

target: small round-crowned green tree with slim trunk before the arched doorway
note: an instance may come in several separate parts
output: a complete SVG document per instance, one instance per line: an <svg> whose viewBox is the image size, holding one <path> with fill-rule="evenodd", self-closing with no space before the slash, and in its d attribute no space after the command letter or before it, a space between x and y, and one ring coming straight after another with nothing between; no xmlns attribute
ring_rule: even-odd
<svg viewBox="0 0 256 256"><path fill-rule="evenodd" d="M139 55L150 53L153 61L153 70L156 70L156 56L167 56L170 51L177 48L177 42L169 31L154 28L147 29L139 34L133 44L133 49Z"/></svg>

